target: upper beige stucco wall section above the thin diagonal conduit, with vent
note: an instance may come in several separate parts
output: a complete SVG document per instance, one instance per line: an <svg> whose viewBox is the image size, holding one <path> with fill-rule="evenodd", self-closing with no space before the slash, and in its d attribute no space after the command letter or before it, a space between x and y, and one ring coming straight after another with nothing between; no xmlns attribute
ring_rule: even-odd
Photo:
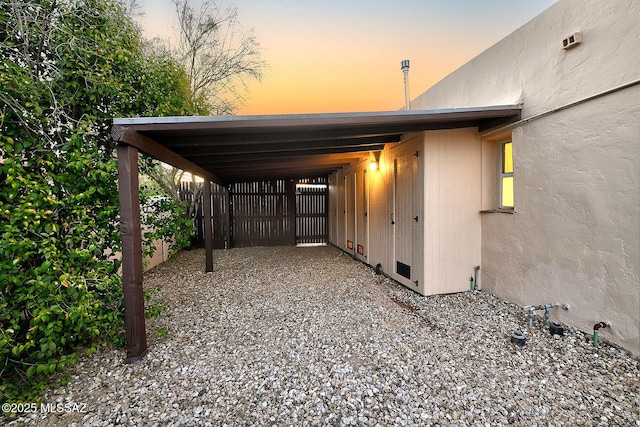
<svg viewBox="0 0 640 427"><path fill-rule="evenodd" d="M582 31L583 42L561 49ZM561 0L411 101L412 109L522 102L539 114L640 75L640 2ZM418 71L415 71L418 72Z"/></svg>

